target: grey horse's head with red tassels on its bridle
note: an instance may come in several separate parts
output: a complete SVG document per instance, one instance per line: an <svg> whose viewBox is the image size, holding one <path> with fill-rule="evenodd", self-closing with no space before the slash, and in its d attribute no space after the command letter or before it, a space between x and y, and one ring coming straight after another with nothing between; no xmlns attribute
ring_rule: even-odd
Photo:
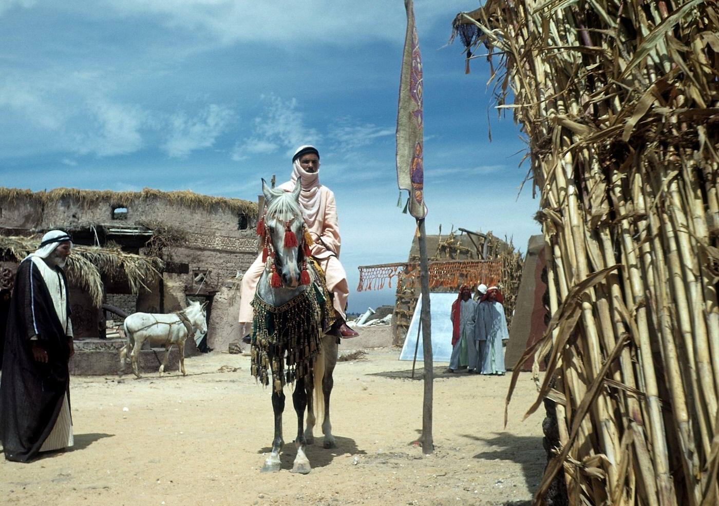
<svg viewBox="0 0 719 506"><path fill-rule="evenodd" d="M297 288L303 282L303 271L306 272L306 239L305 222L299 205L302 186L297 181L294 190L285 192L270 188L262 180L262 193L265 194L267 208L258 231L265 239L263 257L270 258L271 275L275 273L278 278L270 278L274 288ZM279 282L279 284L278 284Z"/></svg>

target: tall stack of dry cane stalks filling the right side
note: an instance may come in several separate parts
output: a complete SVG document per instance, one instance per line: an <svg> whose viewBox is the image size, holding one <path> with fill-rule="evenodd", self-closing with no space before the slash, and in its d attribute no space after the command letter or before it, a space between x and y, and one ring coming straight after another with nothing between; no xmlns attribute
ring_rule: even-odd
<svg viewBox="0 0 719 506"><path fill-rule="evenodd" d="M717 504L717 2L488 0L466 23L541 193L553 316L520 362L546 357L528 414L556 402L560 447L536 502L559 473L572 505Z"/></svg>

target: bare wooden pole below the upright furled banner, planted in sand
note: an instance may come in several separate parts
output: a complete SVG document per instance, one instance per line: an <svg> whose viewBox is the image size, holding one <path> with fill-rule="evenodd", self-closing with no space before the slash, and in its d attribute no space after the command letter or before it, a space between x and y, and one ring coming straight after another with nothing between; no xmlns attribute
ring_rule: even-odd
<svg viewBox="0 0 719 506"><path fill-rule="evenodd" d="M422 408L422 452L429 455L434 451L432 441L432 392L434 385L434 369L432 363L432 326L429 320L429 267L427 265L427 238L424 230L424 218L417 220L419 236L419 268L422 293L422 310L420 324L422 326L422 351L424 353L424 399Z"/></svg>

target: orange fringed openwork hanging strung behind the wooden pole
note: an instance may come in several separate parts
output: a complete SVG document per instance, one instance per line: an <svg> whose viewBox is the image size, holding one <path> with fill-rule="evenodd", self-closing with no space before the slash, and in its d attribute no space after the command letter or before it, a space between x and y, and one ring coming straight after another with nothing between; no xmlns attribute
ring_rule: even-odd
<svg viewBox="0 0 719 506"><path fill-rule="evenodd" d="M358 292L382 290L385 285L392 287L393 278L405 286L413 287L419 280L418 262L400 262L382 265L361 265L359 269ZM480 282L487 286L497 285L502 277L500 260L454 260L429 263L429 288L455 288L464 285L472 287Z"/></svg>

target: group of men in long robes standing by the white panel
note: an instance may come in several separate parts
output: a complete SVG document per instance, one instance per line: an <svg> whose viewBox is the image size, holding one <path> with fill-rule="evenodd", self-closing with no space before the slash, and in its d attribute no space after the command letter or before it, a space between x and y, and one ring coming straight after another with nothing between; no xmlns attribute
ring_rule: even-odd
<svg viewBox="0 0 719 506"><path fill-rule="evenodd" d="M503 341L509 339L504 298L495 286L482 284L477 291L480 297L474 300L470 286L462 285L452 303L452 357L447 372L459 369L466 357L469 373L504 374Z"/></svg>

